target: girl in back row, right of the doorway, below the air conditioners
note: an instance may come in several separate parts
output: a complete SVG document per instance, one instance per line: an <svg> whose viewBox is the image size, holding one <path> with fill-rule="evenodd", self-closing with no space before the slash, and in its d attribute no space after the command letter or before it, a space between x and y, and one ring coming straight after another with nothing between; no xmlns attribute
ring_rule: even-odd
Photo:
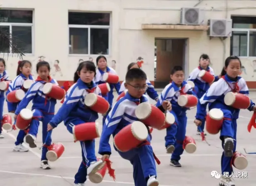
<svg viewBox="0 0 256 186"><path fill-rule="evenodd" d="M213 68L211 68L209 66L209 64L210 64L209 56L207 54L202 54L199 58L199 66L197 68L195 68L190 73L189 78L188 78L189 81L193 81L195 84L195 89L197 90L196 95L197 95L198 99L200 99L203 96L203 94L206 93L206 91L210 87L209 83L207 83L204 80L202 80L201 78L199 78L198 75L199 75L200 71L206 70L214 76ZM218 81L219 78L220 77L215 76L214 81ZM198 135L201 135L201 132L203 132L204 124L205 124L205 122L203 122L201 126L197 127ZM204 135L206 135L206 134L204 134Z"/></svg>

